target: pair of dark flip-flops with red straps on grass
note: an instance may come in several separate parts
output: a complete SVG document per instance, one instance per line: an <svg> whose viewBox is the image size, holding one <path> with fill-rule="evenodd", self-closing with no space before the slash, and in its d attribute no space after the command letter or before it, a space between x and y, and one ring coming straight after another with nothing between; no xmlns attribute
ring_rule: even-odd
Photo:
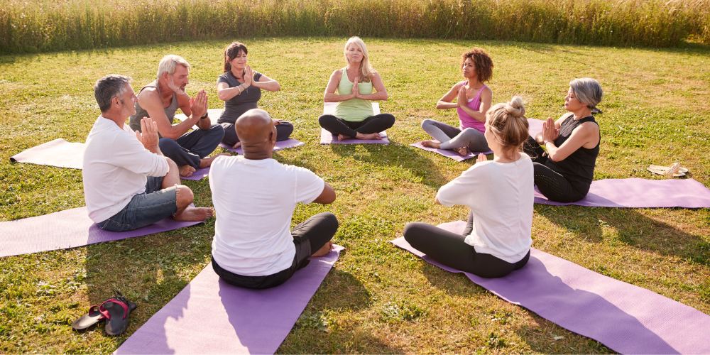
<svg viewBox="0 0 710 355"><path fill-rule="evenodd" d="M87 330L99 322L106 322L104 331L109 335L121 335L129 327L129 315L138 307L115 291L116 295L102 302L101 305L89 307L89 312L72 323L72 329Z"/></svg>

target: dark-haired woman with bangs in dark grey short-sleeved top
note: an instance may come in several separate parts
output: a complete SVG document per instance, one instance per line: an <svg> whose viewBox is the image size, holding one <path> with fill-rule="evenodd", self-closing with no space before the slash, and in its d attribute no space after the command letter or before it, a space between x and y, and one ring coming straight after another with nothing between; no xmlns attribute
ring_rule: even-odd
<svg viewBox="0 0 710 355"><path fill-rule="evenodd" d="M224 127L222 143L239 148L234 122L244 112L256 109L261 99L261 89L278 91L281 85L276 80L251 70L246 65L246 45L233 42L224 50L224 74L217 77L217 96L224 101L224 112L217 120ZM293 132L293 124L273 120L276 126L276 141L285 141Z"/></svg>

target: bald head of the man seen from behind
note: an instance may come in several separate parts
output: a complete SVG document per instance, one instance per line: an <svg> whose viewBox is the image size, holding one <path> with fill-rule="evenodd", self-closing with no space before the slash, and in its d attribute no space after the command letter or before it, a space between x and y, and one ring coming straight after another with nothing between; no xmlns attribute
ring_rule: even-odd
<svg viewBox="0 0 710 355"><path fill-rule="evenodd" d="M250 109L234 124L244 153L271 153L276 141L276 129L271 116L263 109Z"/></svg>

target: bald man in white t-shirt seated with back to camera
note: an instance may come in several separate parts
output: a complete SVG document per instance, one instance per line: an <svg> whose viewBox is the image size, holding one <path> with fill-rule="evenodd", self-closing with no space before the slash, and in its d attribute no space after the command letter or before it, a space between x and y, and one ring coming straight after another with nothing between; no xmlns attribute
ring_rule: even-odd
<svg viewBox="0 0 710 355"><path fill-rule="evenodd" d="M310 170L271 158L276 129L266 111L246 111L235 126L244 155L219 157L209 170L217 212L212 267L232 285L270 288L288 280L310 256L332 249L334 214L290 226L297 203L329 204L335 192Z"/></svg>

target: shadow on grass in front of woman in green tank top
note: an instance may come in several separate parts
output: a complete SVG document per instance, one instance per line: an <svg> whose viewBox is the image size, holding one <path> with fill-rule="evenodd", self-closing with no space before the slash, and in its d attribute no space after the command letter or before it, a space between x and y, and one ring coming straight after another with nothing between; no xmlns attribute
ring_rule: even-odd
<svg viewBox="0 0 710 355"><path fill-rule="evenodd" d="M369 154L356 154L358 147L364 148ZM372 163L383 166L401 167L415 176L422 178L424 185L438 189L447 180L439 173L439 167L431 160L422 157L416 148L398 144L390 138L390 144L332 144L331 150L341 156L349 156L362 163Z"/></svg>

